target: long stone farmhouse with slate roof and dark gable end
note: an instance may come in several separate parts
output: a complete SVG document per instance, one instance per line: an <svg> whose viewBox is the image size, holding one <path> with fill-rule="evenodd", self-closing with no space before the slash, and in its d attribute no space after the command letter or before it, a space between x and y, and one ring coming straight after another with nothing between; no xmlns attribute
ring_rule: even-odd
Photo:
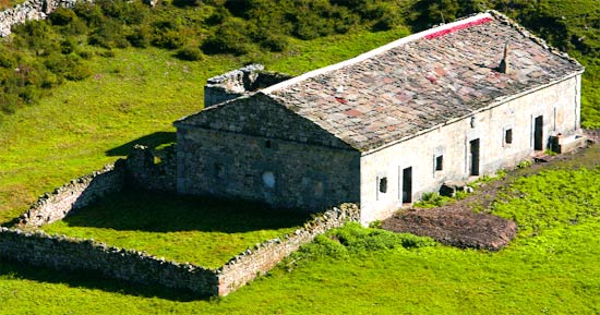
<svg viewBox="0 0 600 315"><path fill-rule="evenodd" d="M245 68L178 120L177 191L383 219L577 137L584 68L485 12L293 78Z"/></svg>

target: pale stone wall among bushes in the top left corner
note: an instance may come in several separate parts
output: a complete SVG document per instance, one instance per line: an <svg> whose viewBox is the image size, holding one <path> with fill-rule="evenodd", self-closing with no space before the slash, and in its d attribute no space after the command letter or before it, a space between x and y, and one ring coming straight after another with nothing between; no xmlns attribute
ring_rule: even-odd
<svg viewBox="0 0 600 315"><path fill-rule="evenodd" d="M80 0L81 1L81 0ZM93 2L92 0L85 0ZM32 20L43 20L60 7L73 8L77 0L27 0L0 12L0 37L11 34L11 27Z"/></svg>

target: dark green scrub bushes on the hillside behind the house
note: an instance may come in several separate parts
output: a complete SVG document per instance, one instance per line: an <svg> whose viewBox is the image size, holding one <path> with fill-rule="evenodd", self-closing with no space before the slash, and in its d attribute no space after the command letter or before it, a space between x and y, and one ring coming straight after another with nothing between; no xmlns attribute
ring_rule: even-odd
<svg viewBox="0 0 600 315"><path fill-rule="evenodd" d="M456 17L496 9L531 28L588 68L583 120L600 124L600 5L590 0L173 0L149 8L141 1L81 2L47 21L14 27L0 46L0 110L12 113L35 104L64 81L92 74L89 59L112 49L149 46L188 61L205 53L261 59L264 51L293 52L293 38L315 39L359 29L420 31Z"/></svg>

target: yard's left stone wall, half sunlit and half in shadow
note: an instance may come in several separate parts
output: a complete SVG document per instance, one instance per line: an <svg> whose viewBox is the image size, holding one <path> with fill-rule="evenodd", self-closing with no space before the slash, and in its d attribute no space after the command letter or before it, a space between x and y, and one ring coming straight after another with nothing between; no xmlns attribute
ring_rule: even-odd
<svg viewBox="0 0 600 315"><path fill-rule="evenodd" d="M85 207L109 193L123 189L125 165L117 160L99 171L74 179L46 193L20 217L21 227L39 227L61 220L71 211Z"/></svg>

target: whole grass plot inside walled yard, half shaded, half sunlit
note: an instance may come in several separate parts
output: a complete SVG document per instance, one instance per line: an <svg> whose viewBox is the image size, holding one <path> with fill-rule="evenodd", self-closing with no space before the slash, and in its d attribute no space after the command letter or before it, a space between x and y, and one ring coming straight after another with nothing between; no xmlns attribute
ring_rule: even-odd
<svg viewBox="0 0 600 315"><path fill-rule="evenodd" d="M307 214L268 210L252 203L122 192L43 229L216 268L256 243L292 232L308 219Z"/></svg>

